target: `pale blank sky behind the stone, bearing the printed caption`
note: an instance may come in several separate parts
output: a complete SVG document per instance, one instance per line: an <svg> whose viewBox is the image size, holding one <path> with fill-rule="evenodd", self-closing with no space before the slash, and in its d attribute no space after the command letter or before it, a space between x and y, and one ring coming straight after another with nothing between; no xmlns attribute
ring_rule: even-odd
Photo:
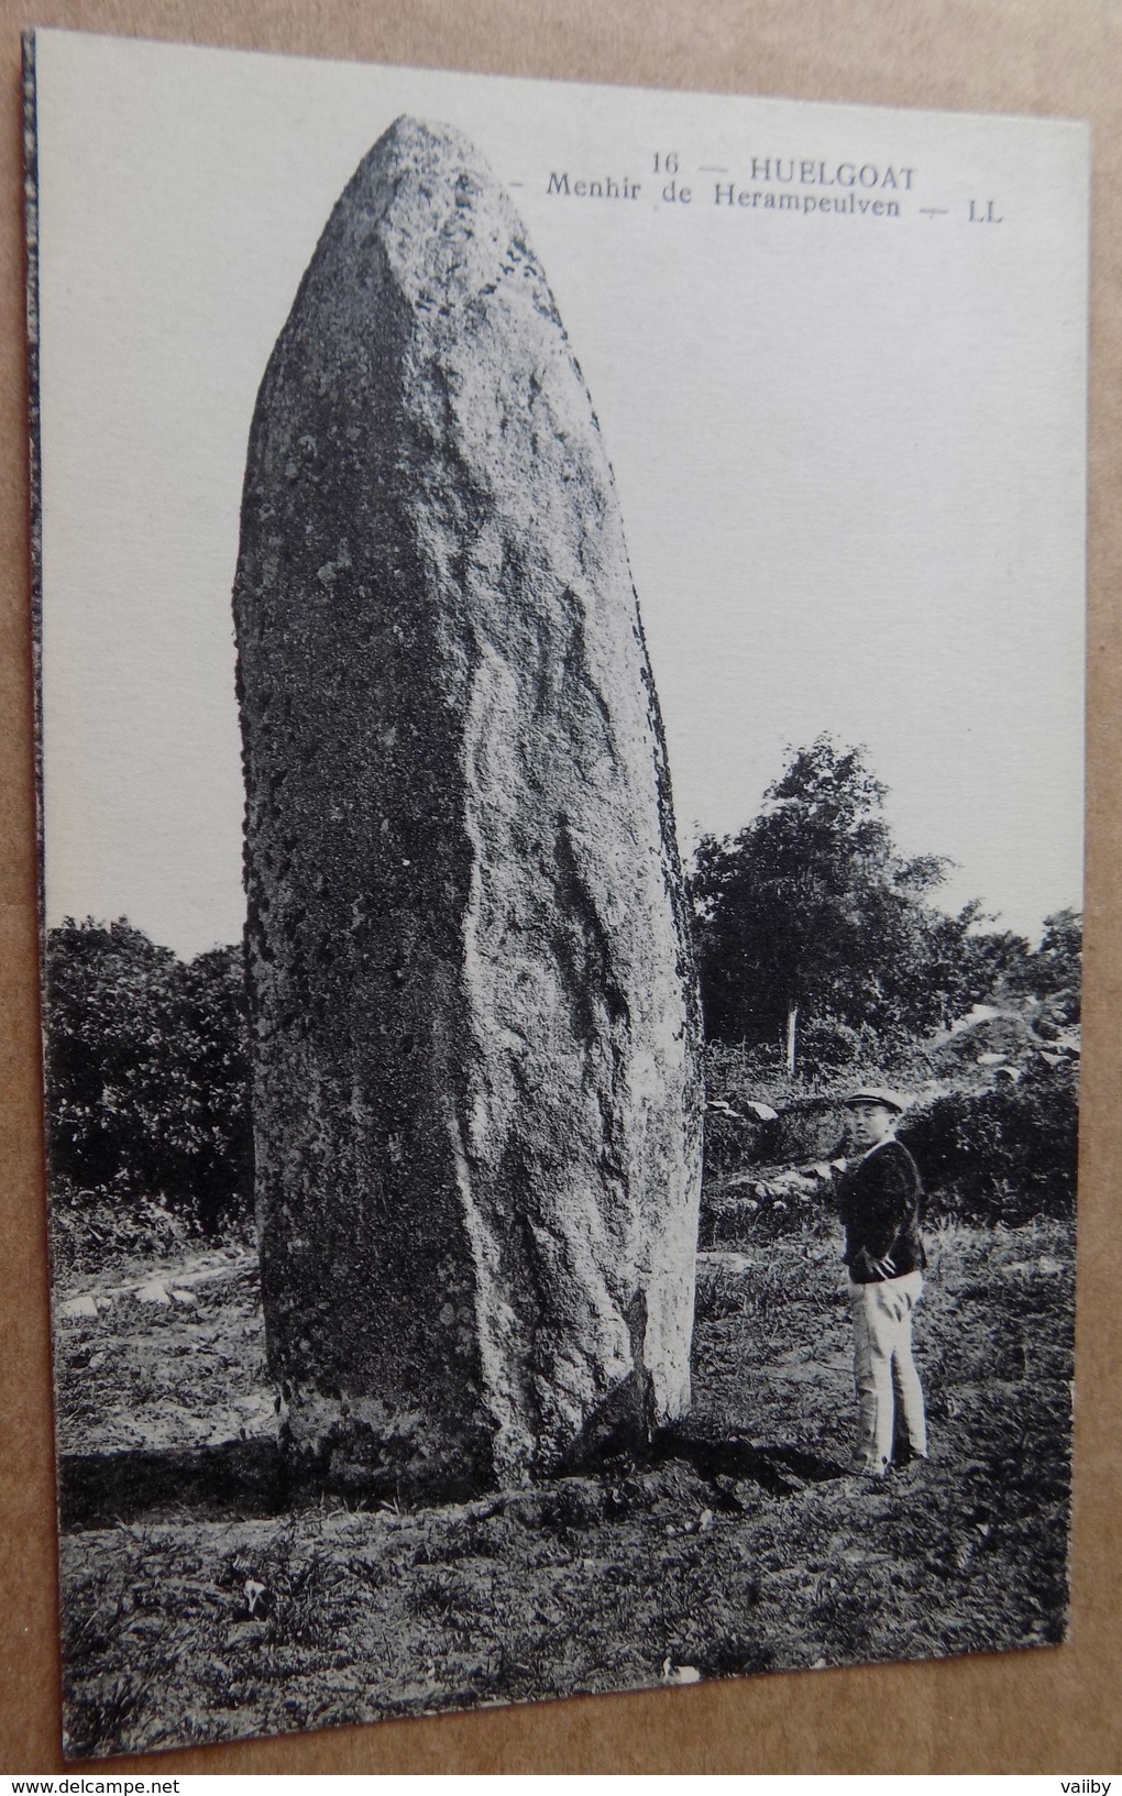
<svg viewBox="0 0 1122 1796"><path fill-rule="evenodd" d="M829 731L867 747L901 850L957 864L948 907L1036 938L1081 903L1083 128L38 47L48 921L127 916L183 954L241 934L246 436L402 111L474 138L551 282L684 851ZM627 198L573 190L609 176Z"/></svg>

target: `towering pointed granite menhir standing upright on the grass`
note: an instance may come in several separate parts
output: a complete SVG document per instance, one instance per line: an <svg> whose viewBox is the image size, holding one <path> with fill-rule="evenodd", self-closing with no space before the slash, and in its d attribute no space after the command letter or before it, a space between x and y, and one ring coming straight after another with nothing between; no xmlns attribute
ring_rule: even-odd
<svg viewBox="0 0 1122 1796"><path fill-rule="evenodd" d="M619 506L456 131L343 192L235 584L269 1363L293 1449L524 1482L689 1401L698 1000Z"/></svg>

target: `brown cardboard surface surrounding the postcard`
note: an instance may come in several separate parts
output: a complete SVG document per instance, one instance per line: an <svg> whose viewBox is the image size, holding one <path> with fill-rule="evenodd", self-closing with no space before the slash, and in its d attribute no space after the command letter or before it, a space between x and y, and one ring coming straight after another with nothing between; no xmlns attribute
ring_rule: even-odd
<svg viewBox="0 0 1122 1796"><path fill-rule="evenodd" d="M1088 957L1072 1642L135 1758L180 1771L1056 1771L1122 1764L1122 9L1115 0L0 0L0 1771L61 1769L31 749L20 29L1093 124ZM1047 720L1041 718L1041 727ZM980 776L984 772L980 770Z"/></svg>

